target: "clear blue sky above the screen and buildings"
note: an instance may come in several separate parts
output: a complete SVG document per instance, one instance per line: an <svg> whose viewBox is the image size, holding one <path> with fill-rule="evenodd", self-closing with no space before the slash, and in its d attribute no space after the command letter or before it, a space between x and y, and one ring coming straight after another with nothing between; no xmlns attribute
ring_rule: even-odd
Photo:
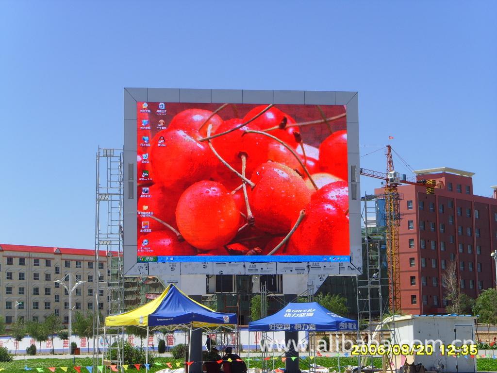
<svg viewBox="0 0 497 373"><path fill-rule="evenodd" d="M93 248L123 87L359 91L361 145L497 185L495 1L4 1L0 242ZM361 147L361 166L385 156ZM397 161L398 170L406 173ZM362 178L362 193L379 182Z"/></svg>

